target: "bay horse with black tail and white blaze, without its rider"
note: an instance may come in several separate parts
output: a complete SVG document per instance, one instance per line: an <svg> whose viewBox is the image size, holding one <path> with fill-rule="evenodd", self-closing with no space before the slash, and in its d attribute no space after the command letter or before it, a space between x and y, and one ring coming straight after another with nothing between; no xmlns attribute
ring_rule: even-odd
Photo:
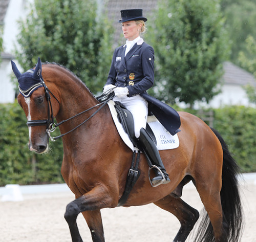
<svg viewBox="0 0 256 242"><path fill-rule="evenodd" d="M92 240L105 241L100 209L118 206L132 150L121 140L108 105L101 108L87 86L68 69L56 63L41 65L38 59L30 77L12 64L18 80L26 75L25 84L36 78L36 74L41 75L41 84L30 96L25 97L23 93L17 97L28 118L29 149L46 152L50 120L55 117L58 123L65 121L59 125L63 141L61 174L75 194L75 200L67 205L65 212L72 241L82 241L76 223L79 213L86 219ZM88 112L76 116L85 110ZM243 227L239 167L216 130L194 115L186 112L179 115L179 147L160 151L170 182L152 187L142 154L140 177L123 206L154 203L173 213L180 222L173 241L183 242L199 218L199 212L181 199L182 187L193 181L206 211L195 241L237 242Z"/></svg>

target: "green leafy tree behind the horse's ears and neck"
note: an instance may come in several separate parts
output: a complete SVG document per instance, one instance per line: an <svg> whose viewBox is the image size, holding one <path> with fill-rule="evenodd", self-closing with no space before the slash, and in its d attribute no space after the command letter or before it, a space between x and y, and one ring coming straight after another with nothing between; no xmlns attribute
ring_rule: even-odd
<svg viewBox="0 0 256 242"><path fill-rule="evenodd" d="M76 74L92 92L102 90L112 53L112 29L94 0L35 0L20 21L17 60L24 70L37 62L57 62Z"/></svg>

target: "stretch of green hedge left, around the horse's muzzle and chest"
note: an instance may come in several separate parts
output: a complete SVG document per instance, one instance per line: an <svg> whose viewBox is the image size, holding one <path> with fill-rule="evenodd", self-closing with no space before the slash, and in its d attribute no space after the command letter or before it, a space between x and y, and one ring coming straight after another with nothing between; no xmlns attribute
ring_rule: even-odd
<svg viewBox="0 0 256 242"><path fill-rule="evenodd" d="M0 105L0 186L63 182L62 142L50 142L50 151L38 155L28 149L27 119L14 104Z"/></svg>

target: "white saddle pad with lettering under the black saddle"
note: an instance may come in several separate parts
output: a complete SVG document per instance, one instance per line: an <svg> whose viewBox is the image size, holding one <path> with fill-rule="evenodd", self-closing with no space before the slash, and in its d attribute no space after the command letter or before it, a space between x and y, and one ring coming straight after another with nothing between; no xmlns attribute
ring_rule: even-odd
<svg viewBox="0 0 256 242"><path fill-rule="evenodd" d="M117 118L117 112L114 107L115 103L114 101L108 102L110 112L112 115L112 118L114 120L114 123L116 125L116 128L118 130L119 135L121 136L123 142L132 150L137 149L134 147L132 141L130 140L129 136L125 133L122 124L119 122ZM147 118L147 123L152 128L156 140L157 140L157 148L158 150L165 150L165 149L175 149L179 147L179 138L178 135L172 136L165 128L164 126L156 119L155 116L149 116Z"/></svg>

